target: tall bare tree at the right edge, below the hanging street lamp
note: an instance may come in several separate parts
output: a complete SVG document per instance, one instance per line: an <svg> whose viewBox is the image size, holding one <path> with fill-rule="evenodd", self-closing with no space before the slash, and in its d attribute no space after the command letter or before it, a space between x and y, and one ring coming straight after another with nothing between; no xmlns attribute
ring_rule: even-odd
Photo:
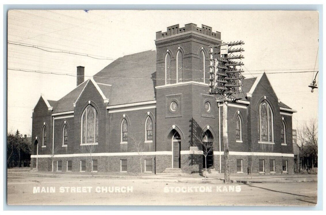
<svg viewBox="0 0 326 215"><path fill-rule="evenodd" d="M308 123L304 123L298 129L298 139L301 157L307 160L306 168L309 168L309 160L311 158L311 167L313 168L318 162L318 125L316 119L311 119Z"/></svg>

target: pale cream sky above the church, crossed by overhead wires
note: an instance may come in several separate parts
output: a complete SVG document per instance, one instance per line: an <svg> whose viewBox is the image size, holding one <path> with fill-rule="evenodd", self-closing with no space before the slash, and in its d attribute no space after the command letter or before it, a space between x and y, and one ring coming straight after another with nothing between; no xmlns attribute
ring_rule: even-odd
<svg viewBox="0 0 326 215"><path fill-rule="evenodd" d="M318 70L318 12L12 10L8 41L118 58L155 50L156 32L188 23L211 26L226 42L243 40L244 75L266 71L278 98L298 111L294 129L318 117L318 89L311 93L308 88L313 72L268 74ZM8 44L11 69L76 74L77 66L85 66L85 75L91 76L111 62ZM8 70L8 131L30 135L32 109L41 93L58 100L75 87L76 77Z"/></svg>

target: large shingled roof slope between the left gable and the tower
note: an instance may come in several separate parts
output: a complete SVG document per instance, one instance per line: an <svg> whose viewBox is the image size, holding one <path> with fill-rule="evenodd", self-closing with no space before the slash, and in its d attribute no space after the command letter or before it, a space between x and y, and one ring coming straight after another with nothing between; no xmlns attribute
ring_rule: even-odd
<svg viewBox="0 0 326 215"><path fill-rule="evenodd" d="M155 100L156 51L126 55L94 75L97 83L111 84L106 93L109 105ZM105 88L99 84L99 87Z"/></svg>

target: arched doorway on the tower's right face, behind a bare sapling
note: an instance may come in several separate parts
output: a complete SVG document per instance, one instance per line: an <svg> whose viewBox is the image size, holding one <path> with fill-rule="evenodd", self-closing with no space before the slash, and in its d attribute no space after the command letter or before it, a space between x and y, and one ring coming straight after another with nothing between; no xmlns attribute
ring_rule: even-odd
<svg viewBox="0 0 326 215"><path fill-rule="evenodd" d="M203 168L205 168L205 163L207 165L207 168L214 168L213 165L213 142L214 142L214 137L212 135L212 133L207 130L202 137L202 150L203 150L203 154L207 156L205 158L205 156L203 155ZM206 162L205 162L206 159Z"/></svg>

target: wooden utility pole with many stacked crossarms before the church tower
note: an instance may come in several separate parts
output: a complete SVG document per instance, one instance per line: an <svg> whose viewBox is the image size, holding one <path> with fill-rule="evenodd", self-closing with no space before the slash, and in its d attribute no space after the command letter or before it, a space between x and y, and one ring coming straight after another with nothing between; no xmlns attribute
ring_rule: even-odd
<svg viewBox="0 0 326 215"><path fill-rule="evenodd" d="M244 49L243 41L224 43L210 46L210 84L209 93L214 94L217 100L223 101L223 146L224 146L224 183L230 183L229 169L229 138L228 138L228 102L239 100L234 94L241 93L244 77L243 70L237 69L244 65L240 60ZM240 45L240 48L239 48ZM233 46L236 48L231 49ZM240 55L233 53L240 52ZM233 98L232 98L233 97ZM219 128L220 129L220 128Z"/></svg>

